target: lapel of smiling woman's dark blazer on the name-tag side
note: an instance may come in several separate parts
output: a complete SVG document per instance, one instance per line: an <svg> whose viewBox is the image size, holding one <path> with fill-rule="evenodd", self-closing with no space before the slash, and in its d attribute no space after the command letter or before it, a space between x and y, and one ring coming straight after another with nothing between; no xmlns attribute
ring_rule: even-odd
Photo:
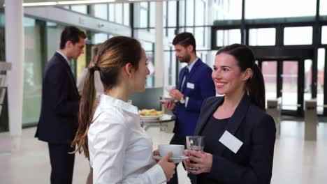
<svg viewBox="0 0 327 184"><path fill-rule="evenodd" d="M249 96L245 93L243 95L242 100L238 107L236 107L234 114L229 119L226 130L231 133L231 135L235 135L235 132L240 128L240 124L242 123L243 118L245 118L245 114L247 114L247 109L249 109L250 99ZM218 140L217 140L218 141ZM222 145L217 148L217 155L221 155L224 152L226 146Z"/></svg>

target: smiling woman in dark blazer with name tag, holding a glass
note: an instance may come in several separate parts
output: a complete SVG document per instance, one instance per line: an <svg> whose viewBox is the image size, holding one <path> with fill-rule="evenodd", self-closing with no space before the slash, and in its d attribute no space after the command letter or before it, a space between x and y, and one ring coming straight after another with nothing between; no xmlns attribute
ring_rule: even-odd
<svg viewBox="0 0 327 184"><path fill-rule="evenodd" d="M184 164L188 171L198 168L191 171L198 184L270 183L276 129L252 50L240 44L219 49L212 79L224 96L203 102L195 135L205 136L204 151L185 151Z"/></svg>

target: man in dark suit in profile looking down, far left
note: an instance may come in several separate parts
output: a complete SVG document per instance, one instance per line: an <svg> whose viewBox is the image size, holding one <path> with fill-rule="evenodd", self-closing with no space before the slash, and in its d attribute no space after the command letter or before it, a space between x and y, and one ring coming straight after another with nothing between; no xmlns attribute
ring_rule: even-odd
<svg viewBox="0 0 327 184"><path fill-rule="evenodd" d="M75 155L69 152L78 129L80 95L68 61L83 54L85 33L67 26L61 33L60 49L45 66L41 115L35 137L48 142L51 183L73 180Z"/></svg>

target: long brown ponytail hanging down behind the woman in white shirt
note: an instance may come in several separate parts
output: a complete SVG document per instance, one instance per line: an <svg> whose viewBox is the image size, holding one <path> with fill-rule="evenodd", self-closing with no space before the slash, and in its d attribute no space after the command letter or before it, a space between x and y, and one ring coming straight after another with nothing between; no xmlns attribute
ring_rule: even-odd
<svg viewBox="0 0 327 184"><path fill-rule="evenodd" d="M92 65L92 63L91 63ZM94 71L99 70L99 67L91 66L85 77L85 84L82 91L82 98L80 99L80 111L78 112L78 131L76 132L75 138L71 143L71 146L77 148L73 153L84 152L86 158L89 158L89 148L87 144L87 132L89 131L89 125L92 123L96 90L94 87Z"/></svg>

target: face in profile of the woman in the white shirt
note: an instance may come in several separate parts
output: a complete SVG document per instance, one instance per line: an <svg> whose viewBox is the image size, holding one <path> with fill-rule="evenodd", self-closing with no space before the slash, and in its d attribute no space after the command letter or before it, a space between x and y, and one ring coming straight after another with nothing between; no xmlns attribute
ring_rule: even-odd
<svg viewBox="0 0 327 184"><path fill-rule="evenodd" d="M145 55L144 49L141 49L141 59L138 62L138 70L134 70L133 73L134 91L145 91L145 82L149 74L150 71L147 69L147 56Z"/></svg>

